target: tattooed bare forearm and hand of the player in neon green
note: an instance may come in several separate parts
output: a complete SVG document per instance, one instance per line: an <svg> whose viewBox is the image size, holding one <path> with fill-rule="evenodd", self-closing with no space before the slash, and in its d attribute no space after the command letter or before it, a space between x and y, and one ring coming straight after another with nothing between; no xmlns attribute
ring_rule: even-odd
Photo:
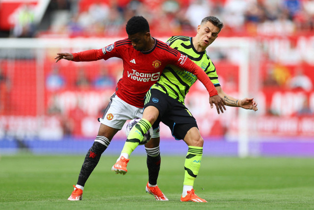
<svg viewBox="0 0 314 210"><path fill-rule="evenodd" d="M225 100L227 106L241 107L243 109L251 109L254 111L258 110L257 102L254 100L254 98L236 99L225 93L220 86L215 88L218 92L218 95Z"/></svg>

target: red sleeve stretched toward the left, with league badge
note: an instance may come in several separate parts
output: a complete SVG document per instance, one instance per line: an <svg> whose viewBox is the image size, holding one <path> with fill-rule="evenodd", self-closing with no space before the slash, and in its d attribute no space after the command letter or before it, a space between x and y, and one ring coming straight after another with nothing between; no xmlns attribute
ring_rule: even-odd
<svg viewBox="0 0 314 210"><path fill-rule="evenodd" d="M115 43L110 44L98 50L86 50L73 54L73 61L94 61L94 60L107 60L112 57L120 58L121 47L115 47Z"/></svg>

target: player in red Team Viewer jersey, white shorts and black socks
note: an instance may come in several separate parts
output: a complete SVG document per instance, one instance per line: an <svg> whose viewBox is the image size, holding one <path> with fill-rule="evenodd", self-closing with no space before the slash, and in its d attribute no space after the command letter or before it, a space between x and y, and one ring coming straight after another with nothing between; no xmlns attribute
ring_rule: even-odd
<svg viewBox="0 0 314 210"><path fill-rule="evenodd" d="M123 76L117 84L115 93L111 96L101 122L98 135L92 147L88 150L81 167L77 185L68 198L70 201L82 199L85 182L97 166L102 153L107 149L113 136L121 130L126 120L142 118L144 96L150 87L157 82L167 64L173 64L189 71L205 85L209 91L209 103L215 104L217 112L223 112L224 100L218 96L207 74L194 62L179 51L170 48L151 36L149 24L142 16L132 17L127 25L128 38L116 41L99 50L87 50L79 53L57 53L56 62L61 59L72 61L107 60L117 57L123 60ZM154 128L152 138L159 141L158 128ZM159 162L158 148L146 148L147 164ZM157 156L156 156L157 155ZM168 200L158 186L154 186L153 193L157 200Z"/></svg>

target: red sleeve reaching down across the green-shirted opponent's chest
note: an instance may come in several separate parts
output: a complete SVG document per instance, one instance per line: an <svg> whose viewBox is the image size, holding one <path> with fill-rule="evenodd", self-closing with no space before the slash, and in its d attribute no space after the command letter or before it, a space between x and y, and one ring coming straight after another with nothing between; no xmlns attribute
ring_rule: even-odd
<svg viewBox="0 0 314 210"><path fill-rule="evenodd" d="M176 52L178 53L177 57L175 58L172 57L173 60L171 64L183 68L184 70L194 74L197 77L197 79L199 79L206 87L207 91L209 92L209 96L218 95L217 90L215 89L214 85L210 81L205 71L197 64L195 64L192 60L182 55L179 51Z"/></svg>

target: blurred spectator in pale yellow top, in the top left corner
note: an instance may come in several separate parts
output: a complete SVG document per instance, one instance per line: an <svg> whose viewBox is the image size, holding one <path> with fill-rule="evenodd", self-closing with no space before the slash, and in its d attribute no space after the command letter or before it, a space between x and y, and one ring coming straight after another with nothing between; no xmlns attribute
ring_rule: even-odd
<svg viewBox="0 0 314 210"><path fill-rule="evenodd" d="M30 3L25 3L14 12L11 17L13 22L12 36L33 37L35 35L35 9Z"/></svg>

